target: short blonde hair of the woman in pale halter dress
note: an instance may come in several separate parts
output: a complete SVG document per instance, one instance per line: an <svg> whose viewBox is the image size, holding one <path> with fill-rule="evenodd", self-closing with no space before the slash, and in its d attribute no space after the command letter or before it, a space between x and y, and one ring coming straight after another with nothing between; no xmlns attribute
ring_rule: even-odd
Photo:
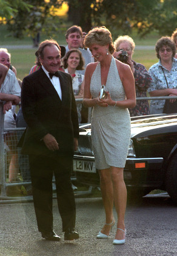
<svg viewBox="0 0 177 256"><path fill-rule="evenodd" d="M112 34L106 27L95 27L85 36L84 46L89 48L92 44L104 46L109 44L109 52L113 54L115 47L113 46Z"/></svg>

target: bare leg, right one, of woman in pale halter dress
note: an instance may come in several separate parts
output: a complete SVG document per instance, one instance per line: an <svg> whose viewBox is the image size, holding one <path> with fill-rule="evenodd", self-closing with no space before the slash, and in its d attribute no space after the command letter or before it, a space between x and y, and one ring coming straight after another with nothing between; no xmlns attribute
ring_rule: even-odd
<svg viewBox="0 0 177 256"><path fill-rule="evenodd" d="M125 229L125 209L127 204L127 189L124 182L124 168L111 167L112 183L113 183L113 198L115 202L115 208L118 215L117 228ZM116 231L116 240L122 240L125 238L124 232L121 230Z"/></svg>

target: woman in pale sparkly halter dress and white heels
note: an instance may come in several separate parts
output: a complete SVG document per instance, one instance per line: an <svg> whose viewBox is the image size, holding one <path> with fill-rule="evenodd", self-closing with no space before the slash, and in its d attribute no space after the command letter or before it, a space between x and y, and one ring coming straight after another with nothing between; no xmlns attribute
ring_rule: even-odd
<svg viewBox="0 0 177 256"><path fill-rule="evenodd" d="M97 238L109 237L115 224L114 203L118 222L113 244L123 244L127 200L123 172L130 142L128 108L136 105L135 80L129 65L112 56L115 48L108 29L96 27L90 30L84 44L98 61L87 65L85 70L83 99L85 107L93 107L92 144L105 208L105 224ZM101 85L105 85L106 99L99 99Z"/></svg>

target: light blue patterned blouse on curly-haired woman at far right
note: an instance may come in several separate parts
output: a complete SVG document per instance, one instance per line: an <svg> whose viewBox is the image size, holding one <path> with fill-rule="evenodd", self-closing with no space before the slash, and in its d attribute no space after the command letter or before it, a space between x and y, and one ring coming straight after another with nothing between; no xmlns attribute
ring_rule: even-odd
<svg viewBox="0 0 177 256"><path fill-rule="evenodd" d="M150 85L149 92L154 90L162 90L167 89L167 83L164 77L164 73L162 68L164 69L165 77L167 79L169 88L176 88L177 87L177 59L173 58L172 68L169 71L168 69L162 66L161 60L158 63L152 65L149 69L149 74L152 77L152 84ZM163 109L165 104L165 99L155 99L150 102L156 109Z"/></svg>

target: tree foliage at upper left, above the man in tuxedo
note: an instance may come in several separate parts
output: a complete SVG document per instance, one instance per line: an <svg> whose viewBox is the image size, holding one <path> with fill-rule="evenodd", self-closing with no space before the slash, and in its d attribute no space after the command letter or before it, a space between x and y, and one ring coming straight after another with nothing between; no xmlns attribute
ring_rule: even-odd
<svg viewBox="0 0 177 256"><path fill-rule="evenodd" d="M4 1L4 0L2 0ZM10 7L12 2L21 2L21 5L15 5L16 9L12 16L6 15L7 28L14 37L22 38L28 34L35 38L41 31L47 32L47 35L58 30L55 20L59 24L59 18L55 15L56 9L61 6L58 0L8 0ZM24 10L24 3L26 8Z"/></svg>

